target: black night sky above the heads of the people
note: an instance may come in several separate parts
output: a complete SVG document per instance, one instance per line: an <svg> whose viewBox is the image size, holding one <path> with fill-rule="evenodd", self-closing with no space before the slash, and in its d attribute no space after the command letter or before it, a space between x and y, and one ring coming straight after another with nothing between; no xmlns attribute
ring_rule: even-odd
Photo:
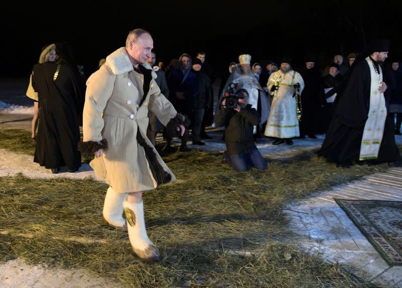
<svg viewBox="0 0 402 288"><path fill-rule="evenodd" d="M60 3L3 9L0 77L28 77L42 46L58 41L73 45L77 62L89 76L100 58L124 46L134 28L152 34L157 58L165 64L182 53L194 57L197 50L204 50L218 74L244 53L252 56L252 63L262 64L290 55L299 66L308 53L317 53L321 60L342 52L346 57L360 51L364 38L373 37L390 39L390 57L402 57L397 1ZM59 5L65 7L56 8Z"/></svg>

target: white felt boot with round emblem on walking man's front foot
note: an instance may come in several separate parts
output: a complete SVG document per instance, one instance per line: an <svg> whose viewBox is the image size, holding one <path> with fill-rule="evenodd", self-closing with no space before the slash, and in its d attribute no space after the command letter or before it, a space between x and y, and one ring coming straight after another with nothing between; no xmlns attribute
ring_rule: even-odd
<svg viewBox="0 0 402 288"><path fill-rule="evenodd" d="M145 228L143 201L141 203L130 203L126 200L123 206L126 213L131 248L134 254L146 262L159 261L159 250L149 240Z"/></svg>

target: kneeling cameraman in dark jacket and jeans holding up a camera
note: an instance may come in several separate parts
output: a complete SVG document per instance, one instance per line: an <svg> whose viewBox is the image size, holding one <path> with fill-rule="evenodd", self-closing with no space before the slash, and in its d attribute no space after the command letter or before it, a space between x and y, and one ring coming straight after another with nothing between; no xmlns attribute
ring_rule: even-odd
<svg viewBox="0 0 402 288"><path fill-rule="evenodd" d="M253 125L258 125L260 115L251 108L246 89L236 92L237 103L234 107L231 97L224 97L221 110L216 118L217 127L225 126L226 162L236 171L249 168L265 169L265 162L254 144ZM227 104L228 100L228 105ZM230 100L230 104L229 104Z"/></svg>

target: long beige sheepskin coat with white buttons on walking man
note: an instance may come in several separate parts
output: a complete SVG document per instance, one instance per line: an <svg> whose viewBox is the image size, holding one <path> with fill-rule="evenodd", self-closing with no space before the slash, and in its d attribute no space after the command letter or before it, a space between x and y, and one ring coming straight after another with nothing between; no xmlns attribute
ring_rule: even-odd
<svg viewBox="0 0 402 288"><path fill-rule="evenodd" d="M106 63L86 82L83 142L108 142L103 157L93 159L90 166L97 178L119 193L152 190L158 184L175 180L148 140L146 131L148 109L163 125L177 112L161 94L151 66L148 63L142 66L144 71L144 68L150 71L137 73L122 47L109 55ZM149 81L146 95L143 87L148 85L143 85L144 81ZM156 174L162 175L163 180L159 177L158 181Z"/></svg>

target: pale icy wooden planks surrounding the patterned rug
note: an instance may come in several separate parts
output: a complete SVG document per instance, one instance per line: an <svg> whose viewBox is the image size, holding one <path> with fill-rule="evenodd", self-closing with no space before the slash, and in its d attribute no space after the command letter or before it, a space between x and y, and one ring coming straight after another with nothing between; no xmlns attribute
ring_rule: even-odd
<svg viewBox="0 0 402 288"><path fill-rule="evenodd" d="M333 187L284 210L307 251L342 264L367 281L402 288L402 266L389 266L334 198L402 201L402 168Z"/></svg>

